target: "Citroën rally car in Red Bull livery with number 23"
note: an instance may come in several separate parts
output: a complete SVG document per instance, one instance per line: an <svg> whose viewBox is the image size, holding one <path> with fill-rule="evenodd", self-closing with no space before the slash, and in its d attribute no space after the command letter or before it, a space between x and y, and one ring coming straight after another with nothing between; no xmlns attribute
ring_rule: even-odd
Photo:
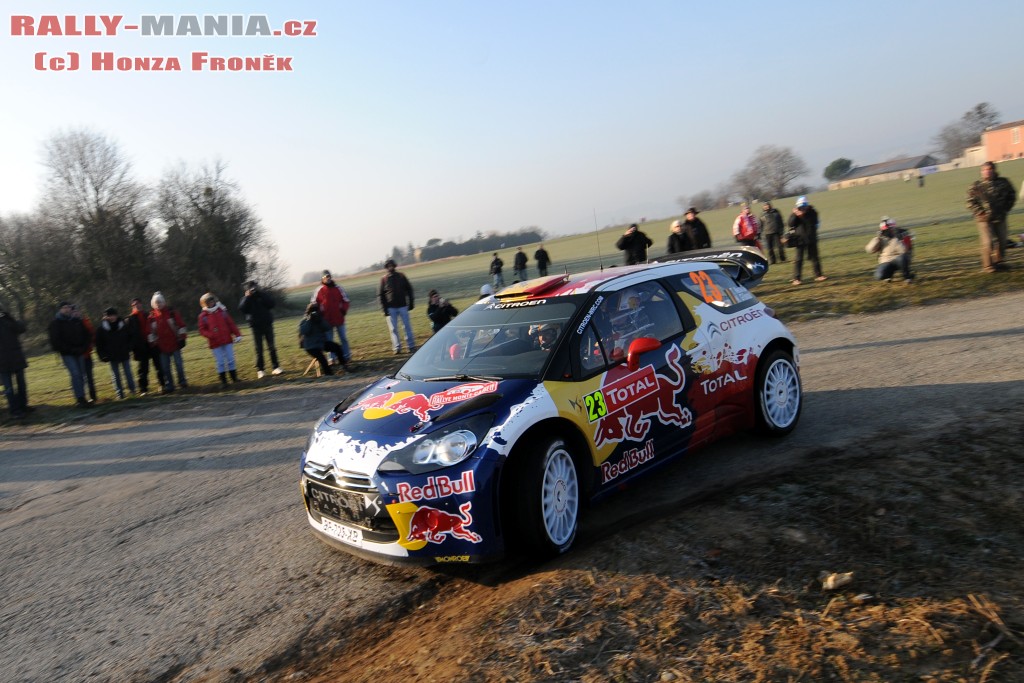
<svg viewBox="0 0 1024 683"><path fill-rule="evenodd" d="M584 506L736 430L797 424L797 342L739 248L519 283L324 416L309 524L389 562L555 555Z"/></svg>

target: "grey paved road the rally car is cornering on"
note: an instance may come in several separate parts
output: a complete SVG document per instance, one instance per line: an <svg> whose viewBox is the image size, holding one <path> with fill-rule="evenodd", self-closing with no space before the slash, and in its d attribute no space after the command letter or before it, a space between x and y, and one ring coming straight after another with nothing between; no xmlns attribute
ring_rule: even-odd
<svg viewBox="0 0 1024 683"><path fill-rule="evenodd" d="M638 518L1020 405L1024 295L794 325L804 414L600 506L581 552ZM446 574L370 564L306 531L298 456L313 420L369 380L190 396L0 432L5 680L258 677L306 640L417 602ZM902 417L897 417L902 416Z"/></svg>

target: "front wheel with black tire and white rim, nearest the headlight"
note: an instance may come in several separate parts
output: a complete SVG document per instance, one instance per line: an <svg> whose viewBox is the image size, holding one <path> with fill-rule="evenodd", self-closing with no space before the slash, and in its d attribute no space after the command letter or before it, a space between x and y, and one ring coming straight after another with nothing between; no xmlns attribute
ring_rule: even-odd
<svg viewBox="0 0 1024 683"><path fill-rule="evenodd" d="M583 506L580 468L564 438L543 439L514 454L520 463L510 490L515 519L510 526L521 549L535 557L552 557L572 547Z"/></svg>

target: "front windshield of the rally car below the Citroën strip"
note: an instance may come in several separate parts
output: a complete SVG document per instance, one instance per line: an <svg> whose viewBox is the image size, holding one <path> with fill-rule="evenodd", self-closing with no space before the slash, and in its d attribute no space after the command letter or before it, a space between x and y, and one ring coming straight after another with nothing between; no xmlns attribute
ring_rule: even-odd
<svg viewBox="0 0 1024 683"><path fill-rule="evenodd" d="M585 297L480 301L434 334L399 379L538 379Z"/></svg>

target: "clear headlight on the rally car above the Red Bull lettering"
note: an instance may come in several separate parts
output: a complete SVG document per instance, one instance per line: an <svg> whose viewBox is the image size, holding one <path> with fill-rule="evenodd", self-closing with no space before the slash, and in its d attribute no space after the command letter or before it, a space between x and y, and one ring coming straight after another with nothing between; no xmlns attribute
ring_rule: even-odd
<svg viewBox="0 0 1024 683"><path fill-rule="evenodd" d="M409 445L388 455L378 470L422 474L458 465L469 458L490 429L495 416L477 415L423 434Z"/></svg>

